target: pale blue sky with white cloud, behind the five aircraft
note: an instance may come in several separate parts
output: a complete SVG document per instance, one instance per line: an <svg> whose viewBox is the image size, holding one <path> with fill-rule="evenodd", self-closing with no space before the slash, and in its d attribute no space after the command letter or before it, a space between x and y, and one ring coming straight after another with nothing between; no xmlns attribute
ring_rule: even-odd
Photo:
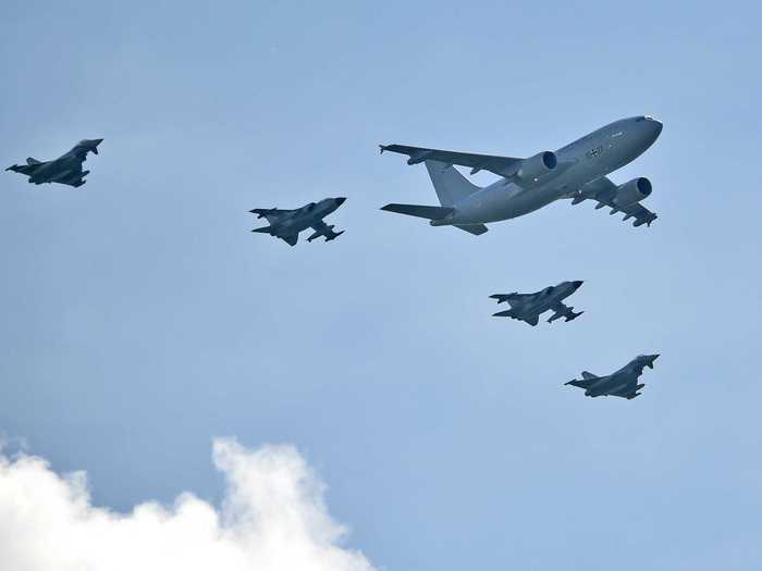
<svg viewBox="0 0 762 571"><path fill-rule="evenodd" d="M85 522L148 506L172 523L187 500L243 542L232 570L336 569L332 549L352 571L755 569L757 16L733 1L11 0L2 166L105 141L78 189L0 177L0 554L13 518L53 521L58 501ZM528 157L636 114L664 131L612 178L650 178L651 227L589 202L479 237L379 211L437 199L422 165L378 144ZM249 233L251 208L328 196L347 197L335 241ZM564 280L585 281L582 318L490 316L490 294ZM636 400L563 386L652 352ZM273 455L291 487L262 493L275 469L235 472L221 446ZM259 536L229 516L279 511L288 489L318 522L273 532L306 546L298 564L278 555L292 539L249 549ZM177 533L170 555L193 543ZM14 564L50 569L30 537Z"/></svg>

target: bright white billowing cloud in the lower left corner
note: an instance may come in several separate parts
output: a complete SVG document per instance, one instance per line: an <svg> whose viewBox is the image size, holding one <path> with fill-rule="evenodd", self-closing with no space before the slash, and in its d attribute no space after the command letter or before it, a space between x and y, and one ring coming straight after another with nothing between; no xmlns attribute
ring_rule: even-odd
<svg viewBox="0 0 762 571"><path fill-rule="evenodd" d="M372 571L342 547L346 529L324 486L291 446L213 445L225 476L220 509L181 494L171 508L94 507L83 472L61 476L41 458L0 455L2 571Z"/></svg>

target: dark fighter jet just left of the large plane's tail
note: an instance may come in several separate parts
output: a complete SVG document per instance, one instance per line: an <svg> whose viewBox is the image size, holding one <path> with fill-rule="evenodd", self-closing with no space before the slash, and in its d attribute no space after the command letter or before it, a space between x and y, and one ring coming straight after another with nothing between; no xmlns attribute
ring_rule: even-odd
<svg viewBox="0 0 762 571"><path fill-rule="evenodd" d="M307 241L312 241L319 236L324 236L325 241L334 240L344 234L344 231L333 232L333 226L325 224L322 219L341 207L345 200L346 198L324 198L320 202L310 202L296 210L255 208L249 212L259 214L258 219L265 216L270 225L254 228L251 232L269 234L285 240L290 246L295 246L299 239L299 232L311 226L315 234L307 238Z"/></svg>

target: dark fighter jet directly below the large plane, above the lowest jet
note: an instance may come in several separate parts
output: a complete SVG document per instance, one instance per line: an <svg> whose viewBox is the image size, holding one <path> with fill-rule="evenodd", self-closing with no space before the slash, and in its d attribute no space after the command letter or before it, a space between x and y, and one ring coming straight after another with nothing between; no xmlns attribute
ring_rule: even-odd
<svg viewBox="0 0 762 571"><path fill-rule="evenodd" d="M577 319L585 313L579 311L575 313L574 308L565 306L562 300L574 294L582 282L561 282L556 286L548 286L542 291L536 294L494 294L490 297L496 299L497 303L507 301L511 309L494 313L495 318L511 318L519 321L526 321L532 327L537 325L540 314L548 310L553 310L553 314L548 319L548 323L552 323L557 319L566 318L566 321Z"/></svg>

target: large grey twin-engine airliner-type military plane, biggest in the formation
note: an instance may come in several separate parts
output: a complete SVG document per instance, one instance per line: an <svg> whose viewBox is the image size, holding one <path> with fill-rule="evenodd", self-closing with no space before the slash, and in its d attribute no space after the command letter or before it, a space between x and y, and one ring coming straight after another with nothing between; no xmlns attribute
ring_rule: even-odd
<svg viewBox="0 0 762 571"><path fill-rule="evenodd" d="M566 147L542 151L528 159L472 154L405 145L381 145L381 152L407 154L407 164L426 163L440 206L386 204L381 210L429 220L432 226L455 226L475 235L490 222L523 216L551 202L572 199L598 202L611 214L622 212L634 226L651 225L656 214L640 204L652 190L648 178L617 185L607 174L651 147L662 124L648 115L623 119L586 135ZM470 166L470 174L489 171L501 178L479 187L453 165Z"/></svg>

